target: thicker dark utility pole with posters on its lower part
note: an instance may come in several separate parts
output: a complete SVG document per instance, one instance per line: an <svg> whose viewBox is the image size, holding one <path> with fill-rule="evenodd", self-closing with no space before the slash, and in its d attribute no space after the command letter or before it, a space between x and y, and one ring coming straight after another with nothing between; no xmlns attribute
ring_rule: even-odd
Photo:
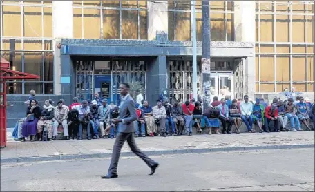
<svg viewBox="0 0 315 192"><path fill-rule="evenodd" d="M211 103L210 100L210 2L209 0L202 0L202 90L204 109L207 109Z"/></svg>

